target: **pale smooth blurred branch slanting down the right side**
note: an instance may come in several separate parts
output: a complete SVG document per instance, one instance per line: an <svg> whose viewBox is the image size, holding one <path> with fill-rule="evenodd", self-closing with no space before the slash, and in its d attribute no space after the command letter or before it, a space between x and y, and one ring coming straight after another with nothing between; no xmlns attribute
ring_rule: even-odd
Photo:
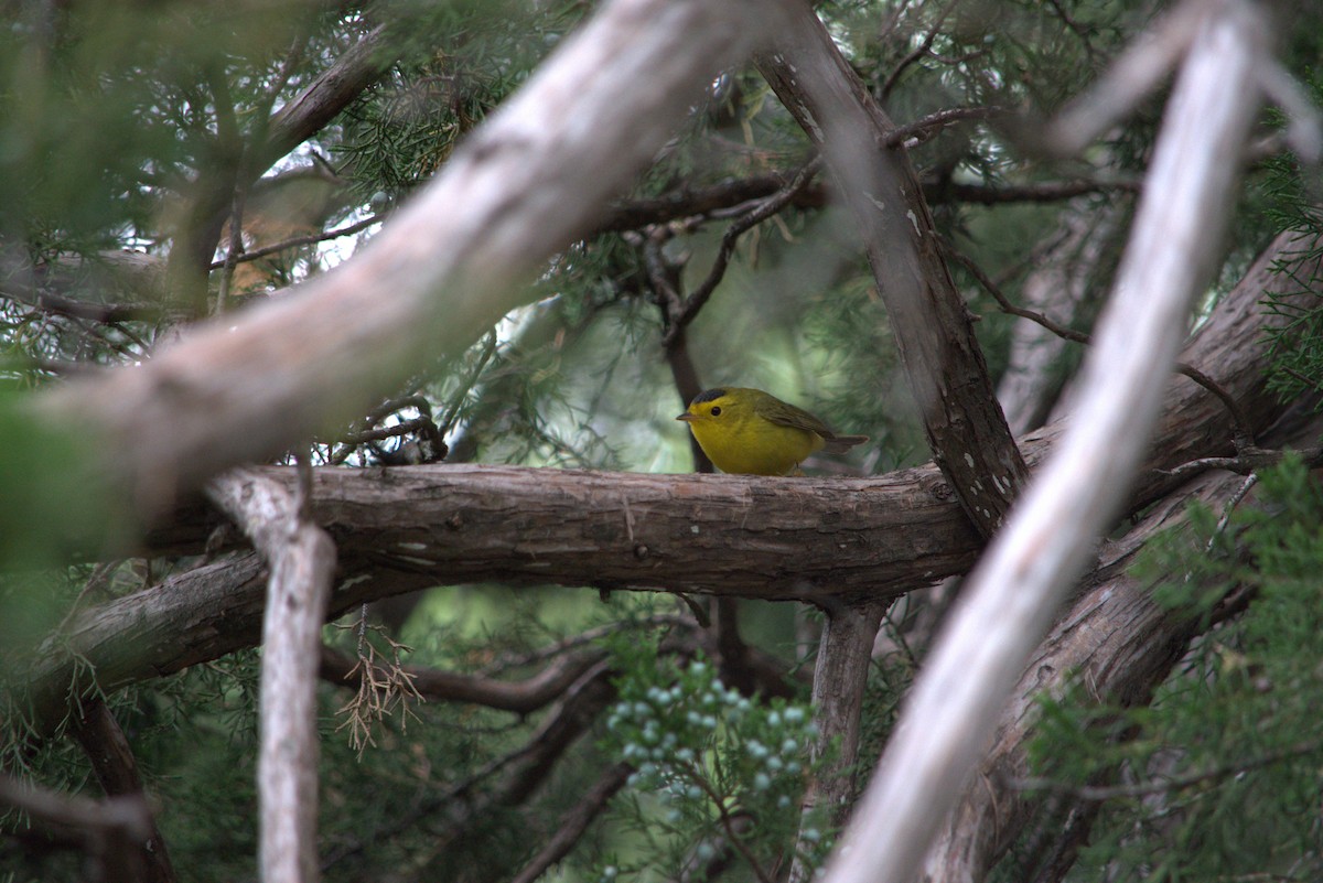
<svg viewBox="0 0 1323 883"><path fill-rule="evenodd" d="M995 715L1119 508L1160 408L1189 305L1208 283L1261 96L1265 22L1236 0L1205 12L1172 94L1115 293L1058 449L971 576L919 674L827 871L910 880ZM990 628L995 624L995 628Z"/></svg>

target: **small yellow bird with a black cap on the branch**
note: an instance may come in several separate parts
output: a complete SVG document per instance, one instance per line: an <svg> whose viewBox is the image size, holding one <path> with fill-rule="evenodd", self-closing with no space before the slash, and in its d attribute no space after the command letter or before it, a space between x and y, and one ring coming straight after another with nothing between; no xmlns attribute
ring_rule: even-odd
<svg viewBox="0 0 1323 883"><path fill-rule="evenodd" d="M867 435L836 435L808 411L770 393L718 386L699 393L684 414L712 464L733 475L802 475L799 464L814 451L843 453Z"/></svg>

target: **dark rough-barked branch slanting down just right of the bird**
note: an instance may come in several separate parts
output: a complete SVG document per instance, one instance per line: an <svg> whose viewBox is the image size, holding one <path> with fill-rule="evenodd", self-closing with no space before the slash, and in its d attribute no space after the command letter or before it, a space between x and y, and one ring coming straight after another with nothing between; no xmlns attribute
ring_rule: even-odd
<svg viewBox="0 0 1323 883"><path fill-rule="evenodd" d="M998 404L933 217L896 126L808 4L758 67L830 160L859 222L934 461L984 537L1005 518L1027 468Z"/></svg>

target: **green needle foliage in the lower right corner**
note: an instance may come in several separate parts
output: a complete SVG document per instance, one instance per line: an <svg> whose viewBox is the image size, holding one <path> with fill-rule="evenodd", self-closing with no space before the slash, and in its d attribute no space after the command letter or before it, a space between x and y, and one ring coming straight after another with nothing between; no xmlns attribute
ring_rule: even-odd
<svg viewBox="0 0 1323 883"><path fill-rule="evenodd" d="M1232 594L1252 600L1195 642L1152 706L1045 705L1037 772L1102 801L1068 879L1318 880L1323 488L1291 460L1224 529L1208 509L1191 521L1140 564L1164 575L1155 597L1209 619Z"/></svg>

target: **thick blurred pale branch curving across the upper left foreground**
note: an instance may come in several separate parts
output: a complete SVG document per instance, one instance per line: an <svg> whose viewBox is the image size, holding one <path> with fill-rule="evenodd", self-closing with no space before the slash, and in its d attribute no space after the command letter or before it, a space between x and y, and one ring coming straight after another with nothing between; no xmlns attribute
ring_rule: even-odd
<svg viewBox="0 0 1323 883"><path fill-rule="evenodd" d="M85 488L130 489L122 501L139 516L361 414L533 297L519 283L593 226L712 75L773 26L770 12L753 0L602 7L353 259L32 410L85 427L98 452L79 464Z"/></svg>

